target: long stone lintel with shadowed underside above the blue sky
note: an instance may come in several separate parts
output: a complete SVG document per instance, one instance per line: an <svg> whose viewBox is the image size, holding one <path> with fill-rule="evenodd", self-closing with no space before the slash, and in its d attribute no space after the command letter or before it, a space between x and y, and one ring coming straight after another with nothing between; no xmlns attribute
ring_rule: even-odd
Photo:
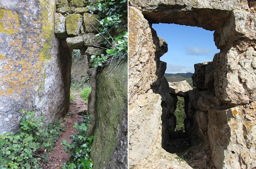
<svg viewBox="0 0 256 169"><path fill-rule="evenodd" d="M247 0L130 0L151 23L174 23L215 30L232 10L248 10Z"/></svg>

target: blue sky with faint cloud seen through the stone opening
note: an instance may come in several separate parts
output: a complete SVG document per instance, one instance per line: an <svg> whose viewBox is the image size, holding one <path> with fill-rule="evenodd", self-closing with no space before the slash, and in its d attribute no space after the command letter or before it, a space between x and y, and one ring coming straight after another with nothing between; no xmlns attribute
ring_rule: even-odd
<svg viewBox="0 0 256 169"><path fill-rule="evenodd" d="M168 44L168 52L160 60L167 62L166 73L194 72L194 64L213 60L219 52L213 32L178 24L153 24L159 37Z"/></svg>

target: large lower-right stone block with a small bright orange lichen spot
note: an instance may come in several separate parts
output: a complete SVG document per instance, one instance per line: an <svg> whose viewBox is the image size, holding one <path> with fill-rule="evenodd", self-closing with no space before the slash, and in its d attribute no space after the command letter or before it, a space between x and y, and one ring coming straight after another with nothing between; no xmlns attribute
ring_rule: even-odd
<svg viewBox="0 0 256 169"><path fill-rule="evenodd" d="M256 167L255 112L255 102L209 110L208 135L215 167Z"/></svg>

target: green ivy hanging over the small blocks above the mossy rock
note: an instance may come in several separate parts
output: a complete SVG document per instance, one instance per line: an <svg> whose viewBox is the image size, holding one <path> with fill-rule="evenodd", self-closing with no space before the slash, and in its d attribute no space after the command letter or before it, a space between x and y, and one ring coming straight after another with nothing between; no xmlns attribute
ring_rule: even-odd
<svg viewBox="0 0 256 169"><path fill-rule="evenodd" d="M127 60L128 55L128 33L127 33L127 0L98 0L92 7L88 7L90 12L98 9L100 24L99 34L96 36L103 36L106 41L107 54L101 56L92 55L91 59L94 61L93 66L104 66L108 62L117 59L117 64L121 64L123 60ZM114 38L113 38L114 37Z"/></svg>

